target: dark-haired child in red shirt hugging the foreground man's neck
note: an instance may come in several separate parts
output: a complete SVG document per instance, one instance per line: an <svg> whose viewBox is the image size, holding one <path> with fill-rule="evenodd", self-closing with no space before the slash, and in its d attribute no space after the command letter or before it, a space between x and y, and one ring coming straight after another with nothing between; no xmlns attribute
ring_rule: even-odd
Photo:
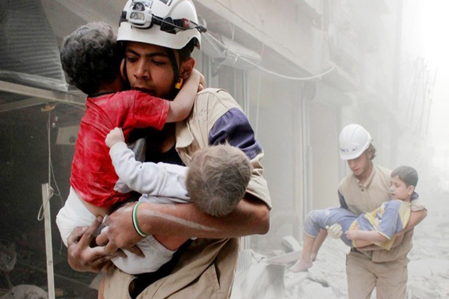
<svg viewBox="0 0 449 299"><path fill-rule="evenodd" d="M61 63L70 83L87 94L72 161L70 193L56 216L66 246L75 227L90 225L96 216L108 215L116 203L131 196L131 189L118 179L112 166L104 142L109 131L121 127L128 140L135 128L161 130L166 122L184 120L200 80L204 80L194 70L174 101L141 91L121 91L126 86L120 73L123 57L112 27L104 22L81 26L64 38L61 47Z"/></svg>

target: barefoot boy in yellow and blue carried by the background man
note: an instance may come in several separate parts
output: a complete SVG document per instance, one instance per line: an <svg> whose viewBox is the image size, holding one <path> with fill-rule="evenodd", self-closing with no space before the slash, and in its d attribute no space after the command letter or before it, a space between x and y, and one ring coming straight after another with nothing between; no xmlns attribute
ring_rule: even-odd
<svg viewBox="0 0 449 299"><path fill-rule="evenodd" d="M320 242L316 237L320 230L334 223L341 225L343 234L340 238L348 246L362 248L374 244L390 250L395 234L409 222L411 210L424 209L424 205L418 203L420 199L416 199L418 196L412 196L417 183L418 172L413 167L400 166L391 173L391 200L383 202L374 211L360 216L343 208L310 211L304 221L301 259L290 267L290 271L306 271L312 267L321 245L315 244Z"/></svg>

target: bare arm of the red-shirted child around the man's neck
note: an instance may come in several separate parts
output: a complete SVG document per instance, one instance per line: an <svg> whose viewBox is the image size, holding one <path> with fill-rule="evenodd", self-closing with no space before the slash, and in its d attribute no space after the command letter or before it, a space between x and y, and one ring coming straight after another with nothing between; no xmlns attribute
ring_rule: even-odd
<svg viewBox="0 0 449 299"><path fill-rule="evenodd" d="M175 100L170 102L170 109L167 116L167 123L179 122L185 120L192 110L198 87L203 75L194 69L192 74L184 83ZM203 76L204 82L204 76Z"/></svg>

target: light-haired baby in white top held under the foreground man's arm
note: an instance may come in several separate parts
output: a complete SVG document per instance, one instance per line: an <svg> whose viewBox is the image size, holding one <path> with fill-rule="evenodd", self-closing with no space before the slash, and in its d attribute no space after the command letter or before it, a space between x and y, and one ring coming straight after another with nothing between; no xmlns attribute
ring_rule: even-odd
<svg viewBox="0 0 449 299"><path fill-rule="evenodd" d="M193 203L206 214L222 217L235 209L251 177L249 158L240 149L227 144L199 149L192 156L189 167L186 167L137 161L134 152L126 146L120 128L111 130L105 142L110 148L109 154L117 175L131 189L142 193L132 215L134 228L143 237L136 245L145 258L123 250L127 258L112 259L117 268L129 274L158 270L188 240L147 235L138 221L141 203Z"/></svg>

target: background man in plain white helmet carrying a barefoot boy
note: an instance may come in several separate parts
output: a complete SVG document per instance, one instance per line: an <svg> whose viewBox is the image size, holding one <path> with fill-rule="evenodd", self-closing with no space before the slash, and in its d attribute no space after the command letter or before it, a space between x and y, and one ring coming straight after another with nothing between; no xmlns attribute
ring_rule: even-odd
<svg viewBox="0 0 449 299"><path fill-rule="evenodd" d="M339 145L340 157L352 171L338 186L340 206L360 215L390 200L391 170L372 162L376 149L368 131L357 124L348 125L340 133ZM351 249L346 261L350 299L369 299L374 288L378 299L407 298L407 254L412 248L413 228L427 215L417 200L412 197L410 220L389 251L375 245Z"/></svg>

